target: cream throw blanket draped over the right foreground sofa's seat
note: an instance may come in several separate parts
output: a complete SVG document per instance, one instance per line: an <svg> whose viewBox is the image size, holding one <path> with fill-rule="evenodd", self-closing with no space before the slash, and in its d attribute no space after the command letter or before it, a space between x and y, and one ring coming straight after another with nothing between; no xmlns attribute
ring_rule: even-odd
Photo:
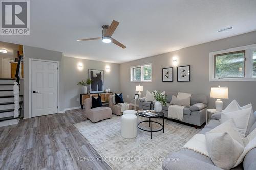
<svg viewBox="0 0 256 170"><path fill-rule="evenodd" d="M196 134L194 135L185 145L183 148L187 148L190 150L193 150L195 152L198 152L200 154L203 154L207 157L209 157L209 153L206 148L206 139L205 135L203 134Z"/></svg>

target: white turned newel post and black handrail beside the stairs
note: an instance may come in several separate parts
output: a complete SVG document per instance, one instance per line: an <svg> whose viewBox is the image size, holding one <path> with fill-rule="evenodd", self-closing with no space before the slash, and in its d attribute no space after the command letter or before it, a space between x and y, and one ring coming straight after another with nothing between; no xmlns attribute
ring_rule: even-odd
<svg viewBox="0 0 256 170"><path fill-rule="evenodd" d="M20 55L18 57L18 64L17 64L17 68L16 68L16 74L15 74L15 78L16 81L14 82L14 86L13 86L13 94L14 94L14 112L13 112L13 117L16 118L20 115L19 113L19 81L20 81L20 72L21 72L21 64L22 64L22 58L23 56Z"/></svg>

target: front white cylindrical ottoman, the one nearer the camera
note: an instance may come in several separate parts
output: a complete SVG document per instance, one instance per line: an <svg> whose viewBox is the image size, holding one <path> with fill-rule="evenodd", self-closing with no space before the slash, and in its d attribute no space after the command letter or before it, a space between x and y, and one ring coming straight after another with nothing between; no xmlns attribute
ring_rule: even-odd
<svg viewBox="0 0 256 170"><path fill-rule="evenodd" d="M126 139L132 139L138 135L137 116L135 116L134 114L122 115L121 135Z"/></svg>

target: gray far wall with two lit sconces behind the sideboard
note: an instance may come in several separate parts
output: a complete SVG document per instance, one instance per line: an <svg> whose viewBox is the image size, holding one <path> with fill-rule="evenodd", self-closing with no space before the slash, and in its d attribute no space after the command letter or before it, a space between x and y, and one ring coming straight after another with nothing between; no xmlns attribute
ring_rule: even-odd
<svg viewBox="0 0 256 170"><path fill-rule="evenodd" d="M78 63L82 63L83 70L78 70ZM106 65L110 66L110 72L106 72ZM88 79L88 69L104 70L104 89L110 88L113 93L119 92L119 64L92 61L71 57L64 57L64 91L65 108L79 107L77 101L82 93L82 86L77 83Z"/></svg>

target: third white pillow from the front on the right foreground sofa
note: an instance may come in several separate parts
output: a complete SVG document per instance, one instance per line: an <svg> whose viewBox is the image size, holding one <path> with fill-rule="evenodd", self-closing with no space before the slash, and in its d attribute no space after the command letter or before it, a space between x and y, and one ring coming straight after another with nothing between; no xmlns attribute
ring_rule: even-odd
<svg viewBox="0 0 256 170"><path fill-rule="evenodd" d="M234 124L236 124L236 127L238 129L238 132L242 137L245 137L245 133L248 127L249 118L251 114L251 107L247 109L237 110L233 112L226 112L221 113L221 119L220 122L224 123L227 120L233 118Z"/></svg>

